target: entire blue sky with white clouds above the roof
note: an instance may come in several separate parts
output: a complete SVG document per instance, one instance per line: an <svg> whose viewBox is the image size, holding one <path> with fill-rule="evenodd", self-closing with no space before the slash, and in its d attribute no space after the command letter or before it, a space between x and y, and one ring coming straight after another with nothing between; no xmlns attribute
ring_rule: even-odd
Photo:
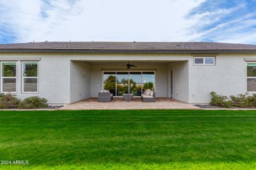
<svg viewBox="0 0 256 170"><path fill-rule="evenodd" d="M0 0L0 44L32 41L256 44L256 0Z"/></svg>

